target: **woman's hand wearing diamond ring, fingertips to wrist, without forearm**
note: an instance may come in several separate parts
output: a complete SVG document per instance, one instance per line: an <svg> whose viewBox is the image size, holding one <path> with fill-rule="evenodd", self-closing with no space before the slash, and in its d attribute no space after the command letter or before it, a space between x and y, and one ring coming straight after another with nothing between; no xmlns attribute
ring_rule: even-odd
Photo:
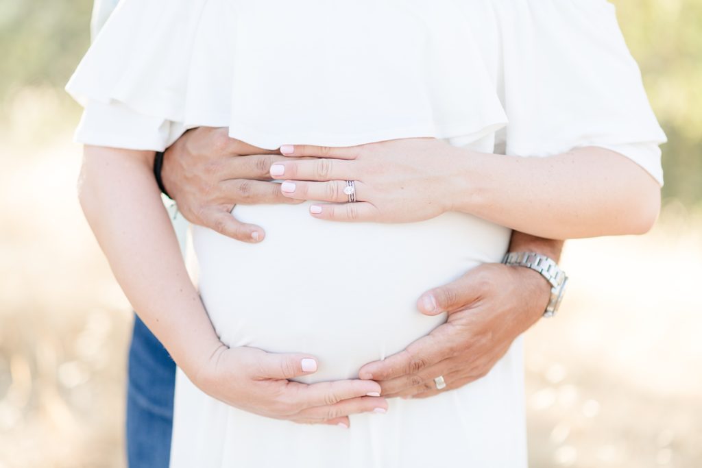
<svg viewBox="0 0 702 468"><path fill-rule="evenodd" d="M434 138L408 138L356 147L284 145L284 156L322 159L277 161L270 169L292 199L328 201L310 206L315 218L336 221L413 222L451 210L456 148ZM356 202L347 203L346 180ZM341 203L341 204L339 204Z"/></svg>

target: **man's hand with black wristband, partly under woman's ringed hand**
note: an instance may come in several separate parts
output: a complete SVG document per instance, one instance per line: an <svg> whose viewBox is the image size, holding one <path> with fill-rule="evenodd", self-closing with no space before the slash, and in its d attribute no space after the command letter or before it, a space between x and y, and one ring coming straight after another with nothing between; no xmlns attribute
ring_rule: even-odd
<svg viewBox="0 0 702 468"><path fill-rule="evenodd" d="M194 128L164 154L161 179L188 221L245 242L263 241L260 226L237 221L234 205L300 203L270 182L270 166L285 158L234 140L227 128Z"/></svg>

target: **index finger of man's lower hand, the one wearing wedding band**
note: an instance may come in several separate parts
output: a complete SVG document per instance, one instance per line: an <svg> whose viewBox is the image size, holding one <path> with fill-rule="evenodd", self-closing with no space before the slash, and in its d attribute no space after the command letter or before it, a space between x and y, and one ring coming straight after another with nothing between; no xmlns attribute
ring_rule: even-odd
<svg viewBox="0 0 702 468"><path fill-rule="evenodd" d="M449 326L445 323L439 328ZM362 379L390 380L402 375L416 374L421 370L453 355L453 344L446 336L432 333L412 342L403 351L383 361L367 363L359 370Z"/></svg>

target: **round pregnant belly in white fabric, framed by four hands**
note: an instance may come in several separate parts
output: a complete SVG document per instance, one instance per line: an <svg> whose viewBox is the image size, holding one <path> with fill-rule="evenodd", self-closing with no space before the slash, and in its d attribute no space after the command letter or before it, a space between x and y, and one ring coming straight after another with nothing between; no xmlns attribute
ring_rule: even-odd
<svg viewBox="0 0 702 468"><path fill-rule="evenodd" d="M416 301L483 262L498 262L510 230L461 213L402 225L312 218L310 203L237 206L266 231L258 244L193 228L199 288L229 346L303 352L319 370L300 379L357 377L446 321Z"/></svg>

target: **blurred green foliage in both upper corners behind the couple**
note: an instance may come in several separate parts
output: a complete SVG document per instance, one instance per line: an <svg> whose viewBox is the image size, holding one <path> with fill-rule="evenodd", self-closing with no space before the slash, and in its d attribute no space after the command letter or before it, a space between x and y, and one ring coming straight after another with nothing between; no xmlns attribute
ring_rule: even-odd
<svg viewBox="0 0 702 468"><path fill-rule="evenodd" d="M664 196L698 205L702 203L702 0L612 3L670 140L663 148ZM88 47L91 7L92 0L0 1L0 105L5 108L25 86L62 88Z"/></svg>

